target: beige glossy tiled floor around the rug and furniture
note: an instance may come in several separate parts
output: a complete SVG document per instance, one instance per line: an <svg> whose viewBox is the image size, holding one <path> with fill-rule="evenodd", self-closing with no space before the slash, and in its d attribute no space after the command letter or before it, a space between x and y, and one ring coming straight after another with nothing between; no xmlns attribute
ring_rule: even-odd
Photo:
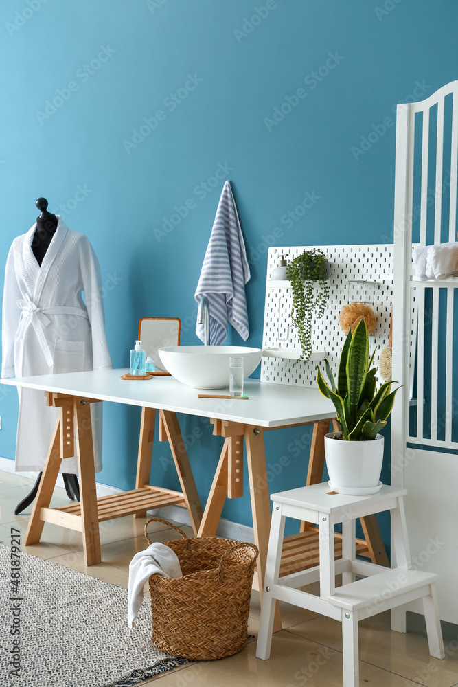
<svg viewBox="0 0 458 687"><path fill-rule="evenodd" d="M0 541L8 537L12 523L25 530L30 508L16 517L14 507L30 491L31 484L19 475L0 472ZM56 488L53 503L67 502L65 491ZM27 552L127 588L130 559L147 546L144 522L124 517L102 523L103 563L89 568L84 567L80 534L48 523L43 541L27 547ZM176 534L162 523L150 527L156 541L167 541ZM190 528L184 529L192 533ZM259 616L259 595L253 592L249 633L257 634ZM236 656L188 664L142 684L160 680L161 687L341 687L340 623L289 605L282 606L282 619L284 629L274 635L268 661L255 657L256 642L250 642ZM422 616L408 613L406 634L390 631L389 613L360 622L361 686L458 686L458 626L442 623L442 630L446 660L439 661L428 654Z"/></svg>

